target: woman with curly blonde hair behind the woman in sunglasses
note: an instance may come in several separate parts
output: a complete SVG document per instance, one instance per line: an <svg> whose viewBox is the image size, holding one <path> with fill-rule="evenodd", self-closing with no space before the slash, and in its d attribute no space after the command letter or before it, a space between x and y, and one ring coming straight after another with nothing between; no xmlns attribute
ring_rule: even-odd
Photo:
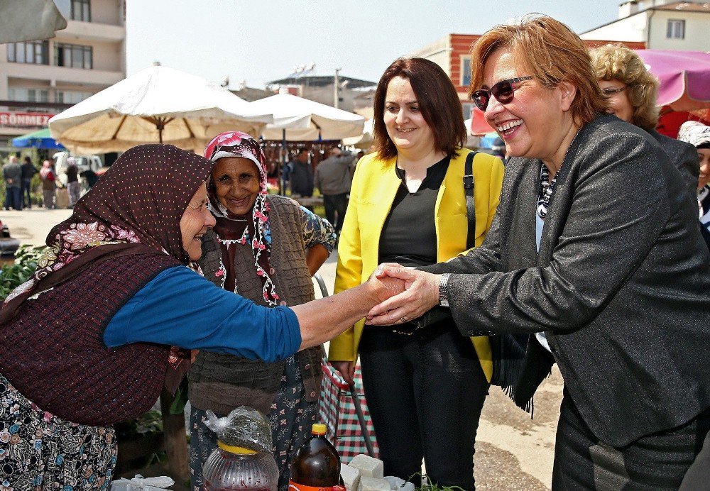
<svg viewBox="0 0 710 491"><path fill-rule="evenodd" d="M658 80L635 51L621 45L591 50L591 62L599 85L608 97L609 111L627 123L648 131L683 176L690 194L697 190L699 162L693 145L658 133L656 96Z"/></svg>

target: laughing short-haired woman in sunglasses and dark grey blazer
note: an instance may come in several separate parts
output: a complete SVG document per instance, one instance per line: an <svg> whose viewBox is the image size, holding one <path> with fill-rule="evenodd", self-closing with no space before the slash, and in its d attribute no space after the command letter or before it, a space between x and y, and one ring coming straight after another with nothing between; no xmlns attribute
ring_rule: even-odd
<svg viewBox="0 0 710 491"><path fill-rule="evenodd" d="M552 363L564 378L552 489L677 489L710 427L697 206L655 139L606 114L567 26L496 26L471 60L471 95L509 155L496 218L464 257L379 267L408 289L368 322L445 304L464 335L530 334L515 402Z"/></svg>

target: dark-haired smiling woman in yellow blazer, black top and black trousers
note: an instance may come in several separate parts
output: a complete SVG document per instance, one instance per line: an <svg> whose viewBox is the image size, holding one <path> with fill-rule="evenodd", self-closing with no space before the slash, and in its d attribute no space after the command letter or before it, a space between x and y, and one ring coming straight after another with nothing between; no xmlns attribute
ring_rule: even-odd
<svg viewBox="0 0 710 491"><path fill-rule="evenodd" d="M466 249L469 150L461 148L466 129L449 77L429 60L396 60L374 104L378 151L356 167L336 292L365 282L379 263L421 266ZM501 160L476 155L476 246L491 225L502 181ZM329 359L348 381L360 355L386 475L409 479L424 458L439 485L474 489L474 441L492 360L487 337L471 341L450 319L418 330L410 322L373 329L361 321L331 341Z"/></svg>

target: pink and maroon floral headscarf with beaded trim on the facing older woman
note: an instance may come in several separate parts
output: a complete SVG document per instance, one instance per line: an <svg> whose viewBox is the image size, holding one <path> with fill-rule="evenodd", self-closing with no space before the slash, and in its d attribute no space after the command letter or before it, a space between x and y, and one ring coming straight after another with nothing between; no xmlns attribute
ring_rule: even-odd
<svg viewBox="0 0 710 491"><path fill-rule="evenodd" d="M223 272L222 287L236 292L234 278L234 247L249 243L256 266L256 275L263 284L263 299L268 305L279 302L279 295L271 280L271 228L268 223L268 202L266 201L266 156L258 141L246 133L228 131L215 136L204 149L204 157L217 162L220 158L241 157L254 162L259 171L259 190L251 211L251 216L236 216L217 199L214 183L210 179L207 186L209 207L217 224L214 231L222 245ZM245 221L246 220L246 221ZM228 263L224 265L224 261Z"/></svg>

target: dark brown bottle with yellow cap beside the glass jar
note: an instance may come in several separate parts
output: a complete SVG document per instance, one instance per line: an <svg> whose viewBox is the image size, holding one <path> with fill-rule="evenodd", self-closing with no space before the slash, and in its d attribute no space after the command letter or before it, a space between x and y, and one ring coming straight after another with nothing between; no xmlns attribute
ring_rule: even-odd
<svg viewBox="0 0 710 491"><path fill-rule="evenodd" d="M291 463L290 489L330 489L340 482L340 456L325 438L325 425L314 424L312 434L298 449ZM300 487L303 486L303 487Z"/></svg>

